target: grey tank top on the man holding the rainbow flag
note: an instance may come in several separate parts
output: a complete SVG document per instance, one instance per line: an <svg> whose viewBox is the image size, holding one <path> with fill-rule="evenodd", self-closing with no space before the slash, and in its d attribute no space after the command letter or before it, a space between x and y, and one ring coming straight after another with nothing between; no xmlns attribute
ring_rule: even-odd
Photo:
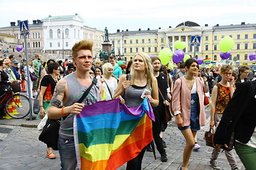
<svg viewBox="0 0 256 170"><path fill-rule="evenodd" d="M73 103L76 103L81 97L82 94L88 88L87 86L82 86L79 83L78 79L75 77L75 72L72 74L68 74L68 76L64 77L68 84L68 101L64 104L64 106L71 106ZM92 77L91 77L92 79ZM100 86L97 83L96 86L92 86L90 89L89 94L85 97L84 103L85 105L91 105L100 101ZM73 140L74 139L74 132L73 132L73 114L68 115L65 120L61 120L60 122L60 130L59 135L65 140Z"/></svg>

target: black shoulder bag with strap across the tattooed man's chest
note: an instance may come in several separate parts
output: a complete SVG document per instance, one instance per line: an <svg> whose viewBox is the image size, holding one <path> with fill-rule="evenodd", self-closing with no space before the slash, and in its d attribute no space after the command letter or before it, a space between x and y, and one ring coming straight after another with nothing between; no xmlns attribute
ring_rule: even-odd
<svg viewBox="0 0 256 170"><path fill-rule="evenodd" d="M94 77L92 80L92 84L85 91L82 97L79 99L77 103L82 103L85 97L89 94L90 89L92 89L93 85L97 84L97 79ZM63 117L63 120L68 116ZM58 131L60 129L60 119L49 119L46 121L46 125L43 127L43 131L38 137L38 140L46 143L47 147L52 147L53 150L58 150Z"/></svg>

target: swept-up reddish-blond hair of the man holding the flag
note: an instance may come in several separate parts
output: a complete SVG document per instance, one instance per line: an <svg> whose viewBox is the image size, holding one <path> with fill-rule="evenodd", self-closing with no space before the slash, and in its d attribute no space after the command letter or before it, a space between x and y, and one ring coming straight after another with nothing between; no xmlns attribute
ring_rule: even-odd
<svg viewBox="0 0 256 170"><path fill-rule="evenodd" d="M90 50L92 52L93 42L92 40L80 40L80 42L76 42L72 47L72 56L74 58L78 57L79 50Z"/></svg>

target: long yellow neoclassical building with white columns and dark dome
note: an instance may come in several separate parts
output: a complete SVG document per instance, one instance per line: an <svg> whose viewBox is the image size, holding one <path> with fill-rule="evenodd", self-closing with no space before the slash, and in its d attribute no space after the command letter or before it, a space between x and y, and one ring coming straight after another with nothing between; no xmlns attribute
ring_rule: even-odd
<svg viewBox="0 0 256 170"><path fill-rule="evenodd" d="M191 36L201 36L201 45L196 46L196 56L203 59L210 58L212 62L220 62L220 40L225 36L230 36L234 40L231 50L230 61L233 64L251 65L256 61L250 61L248 55L256 51L256 24L245 24L230 26L199 26L197 23L186 21L176 28L158 30L117 30L117 33L110 34L115 55L120 55L127 60L138 51L143 51L149 55L158 55L164 47L169 47L173 52L176 40L186 42L183 50L186 54L194 57L194 47L191 45Z"/></svg>

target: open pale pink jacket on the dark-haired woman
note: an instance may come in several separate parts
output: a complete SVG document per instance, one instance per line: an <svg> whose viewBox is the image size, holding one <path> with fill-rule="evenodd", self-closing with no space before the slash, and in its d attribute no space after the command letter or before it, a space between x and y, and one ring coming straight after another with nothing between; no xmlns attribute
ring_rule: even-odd
<svg viewBox="0 0 256 170"><path fill-rule="evenodd" d="M181 82L182 81L182 82ZM199 124L206 125L206 113L204 108L204 94L203 94L203 83L197 77L196 78L197 93L199 98ZM184 77L177 79L175 81L174 92L171 100L171 109L174 113L181 113L181 118L183 119L183 125L190 125L190 115L191 115L191 89ZM175 120L176 123L176 120Z"/></svg>

